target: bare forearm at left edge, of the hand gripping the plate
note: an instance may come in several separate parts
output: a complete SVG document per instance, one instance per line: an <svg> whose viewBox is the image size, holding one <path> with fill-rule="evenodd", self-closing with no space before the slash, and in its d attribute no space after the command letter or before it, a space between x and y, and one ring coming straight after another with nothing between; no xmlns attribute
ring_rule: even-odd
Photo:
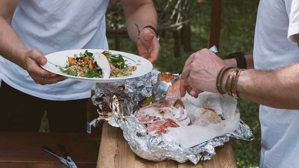
<svg viewBox="0 0 299 168"><path fill-rule="evenodd" d="M24 68L23 60L28 49L11 27L10 22L0 16L0 55Z"/></svg>

